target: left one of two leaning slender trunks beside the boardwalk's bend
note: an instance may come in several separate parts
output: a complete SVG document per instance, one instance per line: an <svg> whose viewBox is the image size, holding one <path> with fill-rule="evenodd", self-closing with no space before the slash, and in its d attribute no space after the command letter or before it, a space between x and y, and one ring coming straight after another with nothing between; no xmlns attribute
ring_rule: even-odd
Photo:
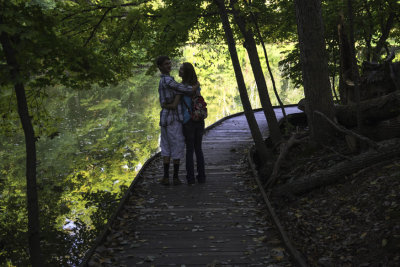
<svg viewBox="0 0 400 267"><path fill-rule="evenodd" d="M260 128L258 127L256 118L254 116L253 110L251 108L251 104L249 101L249 97L247 95L246 84L244 83L243 73L240 68L240 62L236 51L235 40L233 39L233 33L231 26L229 24L228 14L226 12L225 4L223 0L214 0L214 3L218 6L222 26L225 31L226 42L228 43L229 53L231 55L233 69L235 71L236 81L238 84L238 89L240 93L240 99L242 101L244 114L247 119L247 123L249 124L249 128L251 131L251 135L253 137L257 154L261 159L261 162L265 162L269 156L270 152L268 151L262 134L260 132Z"/></svg>

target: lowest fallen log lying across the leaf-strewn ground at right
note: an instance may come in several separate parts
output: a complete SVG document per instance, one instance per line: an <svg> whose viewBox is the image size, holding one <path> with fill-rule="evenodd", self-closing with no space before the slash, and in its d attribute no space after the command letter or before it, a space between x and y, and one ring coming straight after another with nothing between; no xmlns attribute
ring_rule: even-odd
<svg viewBox="0 0 400 267"><path fill-rule="evenodd" d="M366 167L379 162L393 159L400 155L400 140L392 139L379 144L378 150L370 150L366 153L353 157L349 161L336 164L327 170L320 170L310 175L299 178L291 183L276 187L272 194L280 195L300 195L315 188L330 185L344 179Z"/></svg>

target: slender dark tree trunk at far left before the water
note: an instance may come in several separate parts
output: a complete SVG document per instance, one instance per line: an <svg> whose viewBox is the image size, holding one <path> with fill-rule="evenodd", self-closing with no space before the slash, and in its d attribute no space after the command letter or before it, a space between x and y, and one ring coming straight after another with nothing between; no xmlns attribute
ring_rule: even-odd
<svg viewBox="0 0 400 267"><path fill-rule="evenodd" d="M0 24L2 19L0 17ZM19 66L16 60L15 51L11 45L7 33L2 32L0 42L6 57L8 66L11 68L10 75L15 81L14 89L17 96L18 114L25 134L26 145L26 195L28 209L28 235L29 252L33 267L44 266L40 250L40 226L39 226L39 205L36 187L36 139L29 116L28 104L26 101L24 85L18 81Z"/></svg>

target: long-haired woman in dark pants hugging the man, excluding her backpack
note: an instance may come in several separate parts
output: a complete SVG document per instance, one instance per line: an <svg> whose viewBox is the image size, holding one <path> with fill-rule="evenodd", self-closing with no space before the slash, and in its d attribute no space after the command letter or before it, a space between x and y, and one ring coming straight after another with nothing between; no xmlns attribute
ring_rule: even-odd
<svg viewBox="0 0 400 267"><path fill-rule="evenodd" d="M195 86L198 84L196 71L192 64L185 62L179 69L179 76L182 78L182 84ZM197 94L200 94L200 87L197 89ZM190 96L183 96L183 135L185 136L186 145L186 179L189 185L195 183L194 177L194 162L193 152L196 153L197 163L197 182L205 183L205 167L204 155L201 147L204 133L204 120L194 121L191 117L192 112L192 98Z"/></svg>

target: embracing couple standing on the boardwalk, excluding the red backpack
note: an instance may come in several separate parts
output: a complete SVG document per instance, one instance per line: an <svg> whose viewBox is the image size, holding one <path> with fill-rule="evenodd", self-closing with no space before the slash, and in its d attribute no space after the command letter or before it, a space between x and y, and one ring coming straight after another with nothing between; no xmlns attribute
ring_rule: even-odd
<svg viewBox="0 0 400 267"><path fill-rule="evenodd" d="M163 158L164 176L161 184L169 185L169 166L173 161L174 185L182 184L178 177L179 163L183 158L186 145L186 180L188 185L205 183L204 156L201 142L204 132L204 120L191 119L192 95L200 94L200 84L192 64L185 62L179 69L182 83L170 76L172 64L167 56L157 58L161 72L158 86L161 128L161 156ZM197 176L194 175L193 153L196 153Z"/></svg>

